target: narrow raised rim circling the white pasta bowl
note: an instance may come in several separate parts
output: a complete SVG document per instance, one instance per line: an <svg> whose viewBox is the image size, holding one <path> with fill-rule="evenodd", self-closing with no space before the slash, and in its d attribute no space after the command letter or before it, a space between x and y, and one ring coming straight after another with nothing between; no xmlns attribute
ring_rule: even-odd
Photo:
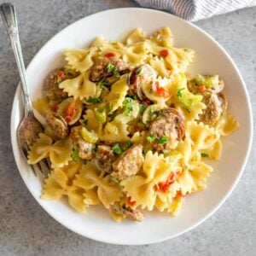
<svg viewBox="0 0 256 256"><path fill-rule="evenodd" d="M17 154L17 152L15 153L15 142L17 142L17 131L15 131L14 128L12 127L15 127L15 100L20 96L20 93L21 93L21 90L20 90L20 83L18 84L16 90L15 90L15 96L14 96L14 99L13 99L13 103L12 103L12 111L11 111L11 117L10 117L10 137L11 137L11 145L12 145L12 151L13 151L13 154L15 156L15 164L16 166L18 167L18 171L20 173L20 177L22 178L23 182L26 184L26 188L29 190L29 192L31 193L31 195L33 196L33 198L38 202L38 204L40 205L40 207L42 207L44 209L45 212L47 212L49 214L49 216L51 218L54 218L56 222L60 223L61 225L63 225L64 227L66 227L68 230L72 230L74 233L78 234L79 236L84 236L86 238L90 238L92 240L95 240L95 241L101 241L101 242L104 242L104 243L108 243L108 244L117 244L117 245L147 245L147 244L153 244L153 243L157 243L157 242L160 242L160 241L166 241L166 240L170 240L174 237L177 237L177 236L180 236L186 232L188 232L189 230L193 230L196 226L198 226L199 224L203 223L207 218L210 218L212 216L212 214L214 212L217 212L219 207L221 207L223 204L224 204L224 201L227 200L227 198L230 196L230 194L232 193L232 191L236 188L236 184L238 183L238 181L240 180L241 178L241 175L242 173L244 172L245 170L245 167L247 165L247 160L249 158L249 155L250 155L250 152L251 152L251 148L252 148L252 143L253 143L253 111L252 111L252 105L251 105L251 102L250 102L250 97L248 95L248 91L247 91L247 86L244 82L244 80L242 79L242 76L241 76L241 73L238 69L238 67L236 67L236 63L231 59L230 55L227 53L227 51L224 49L224 47L219 44L214 38L212 38L212 36L210 34L208 34L207 32L205 32L204 30L202 30L199 26L196 26L195 24L191 23L190 21L188 20L183 20L179 17L177 17L176 15L172 15L170 13L166 13L165 11L161 11L161 10L157 10L157 9L148 9L148 8L139 8L139 7L125 7L125 8L116 8L116 9L107 9L107 10L103 10L103 11L100 11L100 12L96 12L94 14L91 14L91 15L87 15L87 16L84 16L82 18L80 18L79 20L76 20L74 21L73 23L69 24L68 26L62 28L59 32L55 33L54 36L52 36L51 38L48 39L48 41L37 51L37 53L32 57L32 60L29 62L29 64L27 65L26 67L26 71L32 66L33 62L35 61L35 59L37 58L37 55L44 50L44 48L50 44L50 41L52 38L55 38L57 36L59 36L59 34L61 32L64 32L66 31L67 29L69 29L70 26L73 26L74 24L76 23L79 23L81 22L81 20L84 20L86 18L89 18L91 16L96 16L96 15L102 15L103 13L107 13L107 12L116 12L116 11L126 11L126 10L129 10L129 11L137 11L137 10L140 10L140 11L143 11L143 12L149 12L149 13L152 13L152 12L156 12L156 13L160 13L161 15L171 15L173 19L176 19L178 20L178 22L183 22L183 23L186 23L187 25L189 26L192 26L194 27L196 30L198 30L199 32L201 32L205 37L207 37L208 39L210 39L212 41L213 44L216 44L218 46L218 49L221 50L222 54L225 55L225 57L228 59L228 61L230 61L230 65L235 69L237 75L238 75L238 78L240 79L240 82L241 82L241 85L243 87L243 90L245 92L245 96L246 96L246 101L247 101L247 107L248 107L248 114L249 114L249 133L248 133L248 143L247 143L247 153L245 155L245 157L243 158L242 160L242 165L241 165L241 169L239 172L237 172L237 175L236 175L236 179L234 180L234 182L232 183L232 185L230 186L230 189L228 189L228 192L222 197L222 200L218 202L218 204L216 204L215 207L212 207L212 210L209 211L204 218L201 218L200 220L198 220L197 222L195 222L195 224L192 224L190 225L187 229L184 229L180 232L177 232L177 234L175 235L171 235L171 236L166 236L165 238L154 238L154 240L150 240L148 242L141 242L141 241L138 241L138 242L114 242L114 241L111 241L111 240L108 240L108 238L106 239L100 239L96 236L90 236L90 234L84 236L82 235L79 230L75 230L73 229L71 226L69 226L67 223L63 223L60 219L57 219L55 218L55 216L51 215L47 209L47 207L44 207L40 201L38 200L38 197L36 195L34 195L34 193L32 193L31 189L29 189L29 186L28 184L26 183L26 180L25 178L21 175L21 167L18 165L18 160L20 159L19 157L19 154ZM20 149L18 148L17 151L20 151ZM31 168L30 166L27 165L28 168Z"/></svg>

